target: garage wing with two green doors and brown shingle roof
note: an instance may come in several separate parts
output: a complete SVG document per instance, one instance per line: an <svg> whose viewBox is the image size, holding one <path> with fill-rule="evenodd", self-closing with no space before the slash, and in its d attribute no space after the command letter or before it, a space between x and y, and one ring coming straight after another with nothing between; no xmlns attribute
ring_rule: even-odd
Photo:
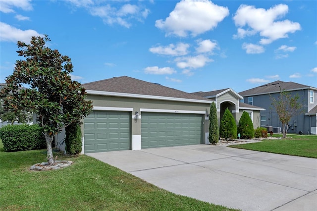
<svg viewBox="0 0 317 211"><path fill-rule="evenodd" d="M127 76L82 86L94 106L82 153L209 144L209 99Z"/></svg>

